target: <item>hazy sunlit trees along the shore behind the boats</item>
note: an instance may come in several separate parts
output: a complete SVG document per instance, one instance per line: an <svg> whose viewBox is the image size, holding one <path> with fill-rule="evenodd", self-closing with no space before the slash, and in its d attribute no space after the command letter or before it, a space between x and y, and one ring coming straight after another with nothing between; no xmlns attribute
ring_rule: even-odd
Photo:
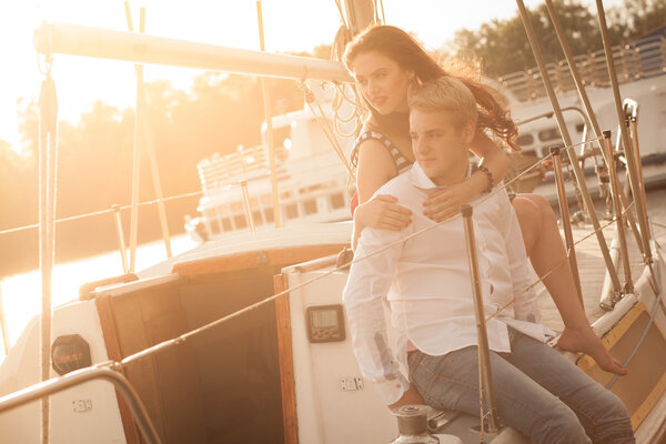
<svg viewBox="0 0 666 444"><path fill-rule="evenodd" d="M601 48L598 24L593 11L574 0L556 0L574 53ZM542 40L547 61L561 60L545 6L533 9L532 20ZM627 1L608 11L614 43L630 40L666 23L664 0ZM491 77L532 68L534 59L519 18L492 20L476 31L455 34L450 53L473 53ZM327 59L330 47L299 53ZM295 82L268 79L274 114L303 108ZM260 143L263 121L258 79L206 72L194 79L185 92L168 81L148 83L147 102L164 195L199 190L196 163L213 153L225 154L238 145ZM38 120L34 102L20 111L23 150L13 151L0 139L0 230L33 224L38 220ZM118 109L95 102L77 124L59 123L57 218L128 204L131 196L133 109ZM0 134L1 138L1 134ZM154 198L145 157L141 165L141 201ZM167 203L170 231L182 232L185 214L194 215L198 198ZM129 226L129 211L123 213ZM64 222L56 230L56 261L91 255L117 248L115 226L110 214ZM154 206L140 210L139 241L159 238ZM0 276L38 266L38 231L0 235Z"/></svg>

